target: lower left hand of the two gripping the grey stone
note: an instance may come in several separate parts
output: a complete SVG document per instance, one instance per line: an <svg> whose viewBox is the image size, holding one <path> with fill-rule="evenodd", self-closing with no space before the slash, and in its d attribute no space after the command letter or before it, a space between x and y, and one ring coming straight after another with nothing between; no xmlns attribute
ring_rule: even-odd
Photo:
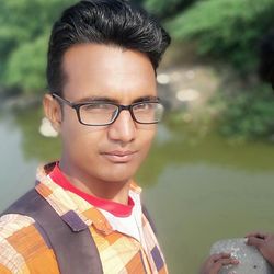
<svg viewBox="0 0 274 274"><path fill-rule="evenodd" d="M203 264L201 274L218 274L224 265L238 263L239 261L228 253L213 254Z"/></svg>

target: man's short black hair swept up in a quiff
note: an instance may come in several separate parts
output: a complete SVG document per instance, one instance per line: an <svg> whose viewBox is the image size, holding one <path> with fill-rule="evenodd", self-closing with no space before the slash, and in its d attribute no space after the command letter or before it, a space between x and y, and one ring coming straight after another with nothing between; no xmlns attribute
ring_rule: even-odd
<svg viewBox="0 0 274 274"><path fill-rule="evenodd" d="M61 94L64 54L77 44L114 45L148 56L157 70L171 38L151 14L126 0L84 0L66 9L54 24L48 45L47 82Z"/></svg>

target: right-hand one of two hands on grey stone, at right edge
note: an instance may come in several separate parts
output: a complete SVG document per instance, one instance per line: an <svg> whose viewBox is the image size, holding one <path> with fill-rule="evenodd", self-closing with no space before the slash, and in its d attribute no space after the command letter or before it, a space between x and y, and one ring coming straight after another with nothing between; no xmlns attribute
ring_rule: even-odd
<svg viewBox="0 0 274 274"><path fill-rule="evenodd" d="M274 233L252 232L246 238L247 244L256 247L265 260L274 266Z"/></svg>

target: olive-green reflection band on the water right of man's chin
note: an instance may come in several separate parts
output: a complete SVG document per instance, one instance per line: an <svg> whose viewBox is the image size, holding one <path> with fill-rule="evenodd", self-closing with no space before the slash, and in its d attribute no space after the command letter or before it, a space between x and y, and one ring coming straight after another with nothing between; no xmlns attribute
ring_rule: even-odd
<svg viewBox="0 0 274 274"><path fill-rule="evenodd" d="M237 169L251 173L274 171L274 145L266 142L242 142L231 145L215 132L206 135L193 133L180 125L159 125L152 151L140 179L158 181L161 171L168 167L214 165Z"/></svg>

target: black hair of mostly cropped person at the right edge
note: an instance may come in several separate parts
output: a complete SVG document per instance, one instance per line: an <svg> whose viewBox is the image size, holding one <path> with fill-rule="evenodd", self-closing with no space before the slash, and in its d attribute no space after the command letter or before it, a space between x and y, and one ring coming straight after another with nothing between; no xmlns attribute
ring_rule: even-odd
<svg viewBox="0 0 274 274"><path fill-rule="evenodd" d="M259 75L262 80L270 82L274 89L274 30L261 41Z"/></svg>

